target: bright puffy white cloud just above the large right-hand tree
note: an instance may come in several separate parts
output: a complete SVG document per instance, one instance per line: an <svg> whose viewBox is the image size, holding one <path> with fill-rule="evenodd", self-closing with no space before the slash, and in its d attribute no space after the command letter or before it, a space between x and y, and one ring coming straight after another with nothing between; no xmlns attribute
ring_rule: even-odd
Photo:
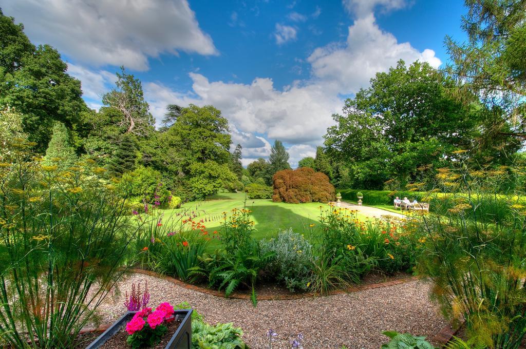
<svg viewBox="0 0 526 349"><path fill-rule="evenodd" d="M382 32L370 14L355 20L345 43L320 47L307 58L312 73L340 94L356 93L371 77L387 71L399 59L410 64L417 59L438 67L441 61L431 49L419 52L410 43L398 43L391 33Z"/></svg>

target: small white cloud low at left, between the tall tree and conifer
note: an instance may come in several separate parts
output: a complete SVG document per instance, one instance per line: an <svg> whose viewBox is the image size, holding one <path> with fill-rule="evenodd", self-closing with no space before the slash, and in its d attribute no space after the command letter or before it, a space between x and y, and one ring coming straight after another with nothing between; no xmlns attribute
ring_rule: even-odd
<svg viewBox="0 0 526 349"><path fill-rule="evenodd" d="M100 100L117 80L117 76L107 70L93 71L71 63L67 64L67 72L81 81L85 97L96 100Z"/></svg>

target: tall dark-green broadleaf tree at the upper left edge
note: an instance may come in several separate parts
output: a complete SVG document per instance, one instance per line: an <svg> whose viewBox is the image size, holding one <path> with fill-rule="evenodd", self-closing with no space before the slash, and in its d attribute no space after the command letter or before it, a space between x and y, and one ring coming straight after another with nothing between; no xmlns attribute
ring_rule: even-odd
<svg viewBox="0 0 526 349"><path fill-rule="evenodd" d="M28 140L44 153L55 121L72 130L87 110L80 81L66 73L67 65L49 45L35 47L0 10L0 105L21 113Z"/></svg>

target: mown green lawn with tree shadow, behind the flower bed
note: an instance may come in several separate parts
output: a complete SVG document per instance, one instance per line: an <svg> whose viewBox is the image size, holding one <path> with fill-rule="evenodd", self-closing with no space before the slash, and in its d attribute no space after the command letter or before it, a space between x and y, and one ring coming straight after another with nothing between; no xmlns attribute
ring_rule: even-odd
<svg viewBox="0 0 526 349"><path fill-rule="evenodd" d="M280 230L290 227L299 233L316 231L319 225L320 206L323 207L323 210L329 208L328 204L319 202L295 204L262 199L247 199L246 201L246 208L252 211L251 217L256 223L254 225L256 229L254 237L256 239L276 237ZM219 230L222 212L230 213L230 210L234 208L241 209L244 207L245 193L218 193L206 201L191 201L183 204L180 209L165 210L165 217L174 217L174 214L186 210L195 211L198 214L196 220L212 220L204 222L206 229L211 233L214 230ZM358 216L358 219L366 218L364 215ZM314 228L310 228L310 224L316 225Z"/></svg>

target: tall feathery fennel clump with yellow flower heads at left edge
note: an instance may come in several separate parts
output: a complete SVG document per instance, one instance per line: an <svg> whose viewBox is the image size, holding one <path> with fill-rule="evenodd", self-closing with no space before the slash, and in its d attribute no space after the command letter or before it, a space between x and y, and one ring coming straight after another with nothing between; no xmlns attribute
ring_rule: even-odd
<svg viewBox="0 0 526 349"><path fill-rule="evenodd" d="M29 146L0 155L2 342L72 347L126 272L140 225L97 168L42 166Z"/></svg>

